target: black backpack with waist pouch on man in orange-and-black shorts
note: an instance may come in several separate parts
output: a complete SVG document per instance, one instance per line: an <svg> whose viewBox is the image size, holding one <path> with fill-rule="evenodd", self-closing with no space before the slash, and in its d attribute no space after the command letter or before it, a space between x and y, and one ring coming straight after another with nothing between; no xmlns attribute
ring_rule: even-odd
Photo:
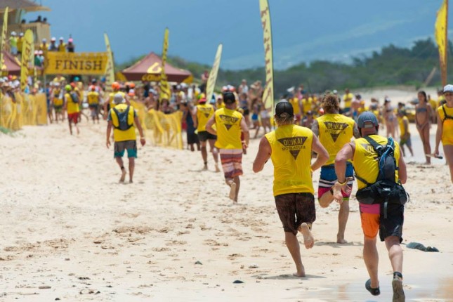
<svg viewBox="0 0 453 302"><path fill-rule="evenodd" d="M378 155L379 174L375 183L368 183L357 174L355 177L367 186L357 190L355 197L362 204L402 204L404 205L409 195L402 188L400 181L395 182L395 172L398 169L394 156L395 142L388 138L385 146L379 145L369 136L365 139L373 146Z"/></svg>

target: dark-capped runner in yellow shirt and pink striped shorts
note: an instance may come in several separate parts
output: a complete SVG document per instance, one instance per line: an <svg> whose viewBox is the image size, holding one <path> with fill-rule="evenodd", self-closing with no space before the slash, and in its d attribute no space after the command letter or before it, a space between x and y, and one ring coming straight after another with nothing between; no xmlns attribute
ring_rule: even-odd
<svg viewBox="0 0 453 302"><path fill-rule="evenodd" d="M224 108L216 110L206 122L206 131L217 136L215 146L221 155L225 183L230 186L230 199L237 204L242 175L242 152L249 145L249 127L240 112L236 111L236 98L232 91L223 93ZM216 129L212 126L216 124ZM244 140L241 140L241 131Z"/></svg>

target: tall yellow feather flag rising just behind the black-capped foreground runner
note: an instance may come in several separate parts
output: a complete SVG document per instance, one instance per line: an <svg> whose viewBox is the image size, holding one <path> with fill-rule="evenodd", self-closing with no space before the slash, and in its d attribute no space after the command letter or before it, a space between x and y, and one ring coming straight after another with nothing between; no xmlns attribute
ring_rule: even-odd
<svg viewBox="0 0 453 302"><path fill-rule="evenodd" d="M272 31L270 28L270 12L268 0L260 0L261 26L263 27L265 85L263 103L266 109L274 112L274 63L272 49Z"/></svg>

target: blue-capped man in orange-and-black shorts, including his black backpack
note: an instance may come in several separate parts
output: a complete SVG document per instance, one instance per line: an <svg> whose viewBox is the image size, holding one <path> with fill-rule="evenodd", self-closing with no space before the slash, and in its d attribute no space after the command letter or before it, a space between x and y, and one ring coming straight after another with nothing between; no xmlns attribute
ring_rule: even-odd
<svg viewBox="0 0 453 302"><path fill-rule="evenodd" d="M370 277L365 283L365 288L374 296L381 293L378 279L379 255L376 249L376 235L379 230L379 237L381 241L386 242L388 257L393 268L393 301L405 301L402 289L402 249L400 247L405 200L394 198L393 192L402 191L405 194L399 183L405 183L407 180L406 164L403 157L400 156L398 143L393 142L391 138L387 139L377 135L379 122L372 112L366 111L360 114L357 126L362 138L358 138L352 143L346 143L336 155L335 172L338 177L336 185L337 189L341 187L341 190L336 190L334 197L341 199L341 191L347 190L346 162L352 160L359 188L356 197L360 202L360 219L364 233L363 260ZM388 145L393 145L393 147ZM382 161L385 162L385 165L380 168L379 164ZM393 171L389 171L388 163L393 163ZM390 166L390 168L392 167ZM395 173L396 169L398 169L398 173ZM393 175L390 175L392 173ZM392 179L389 180L390 178ZM379 191L379 194L376 193L376 190L368 190L376 188L374 185L379 185L379 183L393 186L384 188ZM383 192L388 188L390 190ZM368 192L368 198L363 198L361 192ZM385 194L391 196L382 200L382 196Z"/></svg>

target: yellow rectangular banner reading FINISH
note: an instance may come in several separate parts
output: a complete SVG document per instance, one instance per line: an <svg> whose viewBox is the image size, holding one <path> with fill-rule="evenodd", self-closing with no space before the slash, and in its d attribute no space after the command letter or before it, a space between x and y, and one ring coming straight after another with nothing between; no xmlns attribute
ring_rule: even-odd
<svg viewBox="0 0 453 302"><path fill-rule="evenodd" d="M46 74L105 74L107 53L60 53L48 51Z"/></svg>

